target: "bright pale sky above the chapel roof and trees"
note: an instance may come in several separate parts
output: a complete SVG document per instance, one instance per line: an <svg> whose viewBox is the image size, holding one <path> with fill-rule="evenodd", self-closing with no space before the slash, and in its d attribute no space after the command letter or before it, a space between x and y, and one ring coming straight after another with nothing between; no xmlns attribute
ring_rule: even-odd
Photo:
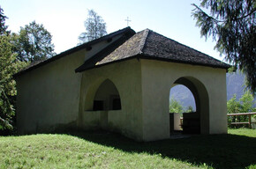
<svg viewBox="0 0 256 169"><path fill-rule="evenodd" d="M112 33L127 26L125 18L132 21L129 26L136 32L149 28L156 33L177 40L184 45L200 50L207 55L219 57L212 39L200 37L200 28L191 17L192 3L199 0L1 0L0 5L8 17L6 25L12 32L19 32L35 20L43 24L53 35L56 53L73 48L79 34L85 31L87 10L94 9Z"/></svg>

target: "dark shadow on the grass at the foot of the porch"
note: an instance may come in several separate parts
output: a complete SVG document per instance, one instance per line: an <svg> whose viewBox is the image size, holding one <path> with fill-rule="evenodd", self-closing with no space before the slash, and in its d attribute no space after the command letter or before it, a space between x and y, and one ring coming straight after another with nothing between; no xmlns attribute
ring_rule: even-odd
<svg viewBox="0 0 256 169"><path fill-rule="evenodd" d="M162 154L162 158L176 158L193 165L205 163L214 168L245 168L256 165L255 137L208 135L138 143L103 131L72 132L71 135L122 151Z"/></svg>

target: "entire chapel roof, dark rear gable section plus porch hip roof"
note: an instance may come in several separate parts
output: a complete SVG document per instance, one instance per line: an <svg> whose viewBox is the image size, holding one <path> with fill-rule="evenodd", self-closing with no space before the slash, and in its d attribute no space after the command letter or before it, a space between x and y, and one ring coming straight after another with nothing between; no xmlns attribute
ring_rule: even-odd
<svg viewBox="0 0 256 169"><path fill-rule="evenodd" d="M130 27L126 27L115 33L110 33L102 38L89 41L78 47L71 48L59 55L55 55L45 61L38 62L33 66L19 71L14 77L19 76L27 71L37 69L42 65L53 62L65 55L71 55L83 48L90 48L92 45L102 40L110 40L111 38L122 34L122 36L111 43L108 47L103 48L92 58L84 62L76 72L92 69L113 62L121 62L132 58L161 60L166 62L182 62L188 64L203 65L215 68L228 69L229 64L221 62L209 55L205 55L193 48L184 46L175 40L171 40L159 33L154 33L149 29L145 29L139 33L135 33Z"/></svg>

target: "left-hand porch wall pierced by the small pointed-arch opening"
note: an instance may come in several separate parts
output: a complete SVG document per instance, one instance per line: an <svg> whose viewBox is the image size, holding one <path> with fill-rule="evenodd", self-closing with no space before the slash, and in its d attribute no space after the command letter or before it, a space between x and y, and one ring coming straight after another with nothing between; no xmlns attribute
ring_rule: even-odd
<svg viewBox="0 0 256 169"><path fill-rule="evenodd" d="M99 111L93 109L94 95L106 79L116 85L121 98L121 110L108 111L108 127L124 136L142 140L141 114L141 72L140 62L136 59L117 62L82 73L81 95L79 106L79 126L90 129L87 119L100 118ZM98 123L102 123L99 119Z"/></svg>

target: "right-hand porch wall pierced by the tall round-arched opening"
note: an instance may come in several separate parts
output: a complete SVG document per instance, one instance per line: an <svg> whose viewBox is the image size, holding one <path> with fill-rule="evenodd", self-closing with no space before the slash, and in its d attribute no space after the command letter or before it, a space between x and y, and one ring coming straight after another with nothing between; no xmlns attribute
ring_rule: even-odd
<svg viewBox="0 0 256 169"><path fill-rule="evenodd" d="M227 133L226 70L141 60L143 140L169 138L169 90L180 77L198 86L201 100L207 99L201 93L207 90L209 114L201 110L201 133Z"/></svg>

